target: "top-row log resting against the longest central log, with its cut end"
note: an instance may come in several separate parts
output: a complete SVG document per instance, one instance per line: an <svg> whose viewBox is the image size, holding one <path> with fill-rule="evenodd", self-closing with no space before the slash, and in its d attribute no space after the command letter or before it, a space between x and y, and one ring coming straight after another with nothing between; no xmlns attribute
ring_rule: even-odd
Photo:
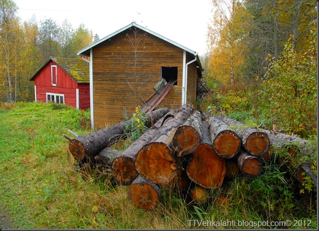
<svg viewBox="0 0 319 231"><path fill-rule="evenodd" d="M193 153L200 144L202 135L201 112L195 111L192 115L176 130L173 137L173 146L178 151L178 156Z"/></svg>

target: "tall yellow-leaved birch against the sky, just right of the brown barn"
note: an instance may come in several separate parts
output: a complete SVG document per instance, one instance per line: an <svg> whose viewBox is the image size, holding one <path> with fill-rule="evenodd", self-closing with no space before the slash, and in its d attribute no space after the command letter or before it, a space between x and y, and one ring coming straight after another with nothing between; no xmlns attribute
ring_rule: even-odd
<svg viewBox="0 0 319 231"><path fill-rule="evenodd" d="M209 27L211 74L233 85L245 66L248 24L251 15L239 0L212 0L213 22Z"/></svg>

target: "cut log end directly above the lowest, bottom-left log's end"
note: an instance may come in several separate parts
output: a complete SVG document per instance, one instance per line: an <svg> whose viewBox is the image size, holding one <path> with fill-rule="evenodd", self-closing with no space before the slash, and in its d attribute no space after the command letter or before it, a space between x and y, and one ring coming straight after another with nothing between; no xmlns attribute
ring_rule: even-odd
<svg viewBox="0 0 319 231"><path fill-rule="evenodd" d="M111 172L119 185L130 185L138 176L134 159L127 156L115 158L111 164Z"/></svg>

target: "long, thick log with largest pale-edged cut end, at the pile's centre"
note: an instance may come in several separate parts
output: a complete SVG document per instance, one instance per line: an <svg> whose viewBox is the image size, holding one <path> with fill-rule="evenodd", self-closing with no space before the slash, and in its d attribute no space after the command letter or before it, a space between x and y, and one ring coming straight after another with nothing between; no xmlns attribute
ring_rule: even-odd
<svg viewBox="0 0 319 231"><path fill-rule="evenodd" d="M181 106L138 152L135 168L140 175L157 184L169 184L176 178L177 159L171 143L177 128L191 115L192 109L191 104Z"/></svg>

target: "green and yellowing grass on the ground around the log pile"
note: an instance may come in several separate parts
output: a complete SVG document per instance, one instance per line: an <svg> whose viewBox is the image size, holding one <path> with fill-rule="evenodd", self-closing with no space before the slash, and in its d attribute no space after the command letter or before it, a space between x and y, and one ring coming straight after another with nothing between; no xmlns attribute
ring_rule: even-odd
<svg viewBox="0 0 319 231"><path fill-rule="evenodd" d="M0 203L8 208L13 228L207 228L189 226L191 219L310 219L310 228L316 228L316 199L291 196L290 182L275 164L266 165L260 177L237 177L226 191L210 191L207 204L188 206L168 187L154 210L135 208L129 186L113 185L107 173L71 167L75 160L62 133L92 132L89 114L55 104L0 105Z"/></svg>

